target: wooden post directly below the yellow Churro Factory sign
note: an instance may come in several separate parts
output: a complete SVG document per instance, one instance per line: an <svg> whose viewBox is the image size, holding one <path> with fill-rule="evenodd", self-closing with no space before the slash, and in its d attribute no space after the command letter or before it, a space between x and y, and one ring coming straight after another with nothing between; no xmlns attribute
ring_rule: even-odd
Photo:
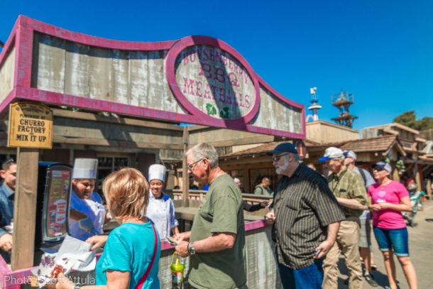
<svg viewBox="0 0 433 289"><path fill-rule="evenodd" d="M33 267L38 148L17 148L15 203L13 207L12 270Z"/></svg>

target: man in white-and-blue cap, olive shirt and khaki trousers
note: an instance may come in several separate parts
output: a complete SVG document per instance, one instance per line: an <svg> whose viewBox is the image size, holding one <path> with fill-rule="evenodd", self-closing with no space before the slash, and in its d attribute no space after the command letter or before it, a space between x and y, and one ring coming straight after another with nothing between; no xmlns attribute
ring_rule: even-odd
<svg viewBox="0 0 433 289"><path fill-rule="evenodd" d="M324 161L332 172L328 177L329 189L343 207L346 216L346 220L340 222L334 246L324 259L322 286L324 289L338 287L338 261L341 250L349 270L349 288L361 289L363 274L358 249L359 227L361 225L359 216L363 210L368 209L366 187L363 185L361 176L344 165L344 154L341 149L327 148L319 161Z"/></svg>

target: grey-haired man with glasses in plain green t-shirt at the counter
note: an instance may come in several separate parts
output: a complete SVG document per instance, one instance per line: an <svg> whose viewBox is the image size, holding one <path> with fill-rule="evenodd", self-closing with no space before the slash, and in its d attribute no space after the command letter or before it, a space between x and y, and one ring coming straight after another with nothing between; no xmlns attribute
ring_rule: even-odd
<svg viewBox="0 0 433 289"><path fill-rule="evenodd" d="M199 143L186 153L188 173L209 184L191 231L179 234L176 252L190 256L192 288L235 289L246 285L242 193L218 164L215 148Z"/></svg>

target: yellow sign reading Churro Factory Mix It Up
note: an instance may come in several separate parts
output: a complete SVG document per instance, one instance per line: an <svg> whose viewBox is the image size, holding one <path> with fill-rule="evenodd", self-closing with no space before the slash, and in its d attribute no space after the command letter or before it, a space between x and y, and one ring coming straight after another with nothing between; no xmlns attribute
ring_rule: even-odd
<svg viewBox="0 0 433 289"><path fill-rule="evenodd" d="M53 111L32 102L10 104L8 146L52 148Z"/></svg>

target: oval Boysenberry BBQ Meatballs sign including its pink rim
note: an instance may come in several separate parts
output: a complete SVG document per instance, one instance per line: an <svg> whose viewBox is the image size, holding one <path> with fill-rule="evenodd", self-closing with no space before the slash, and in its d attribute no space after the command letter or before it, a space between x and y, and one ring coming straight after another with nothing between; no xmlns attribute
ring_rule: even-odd
<svg viewBox="0 0 433 289"><path fill-rule="evenodd" d="M221 40L182 38L170 49L165 69L173 94L191 114L226 124L257 114L258 80L248 62Z"/></svg>

